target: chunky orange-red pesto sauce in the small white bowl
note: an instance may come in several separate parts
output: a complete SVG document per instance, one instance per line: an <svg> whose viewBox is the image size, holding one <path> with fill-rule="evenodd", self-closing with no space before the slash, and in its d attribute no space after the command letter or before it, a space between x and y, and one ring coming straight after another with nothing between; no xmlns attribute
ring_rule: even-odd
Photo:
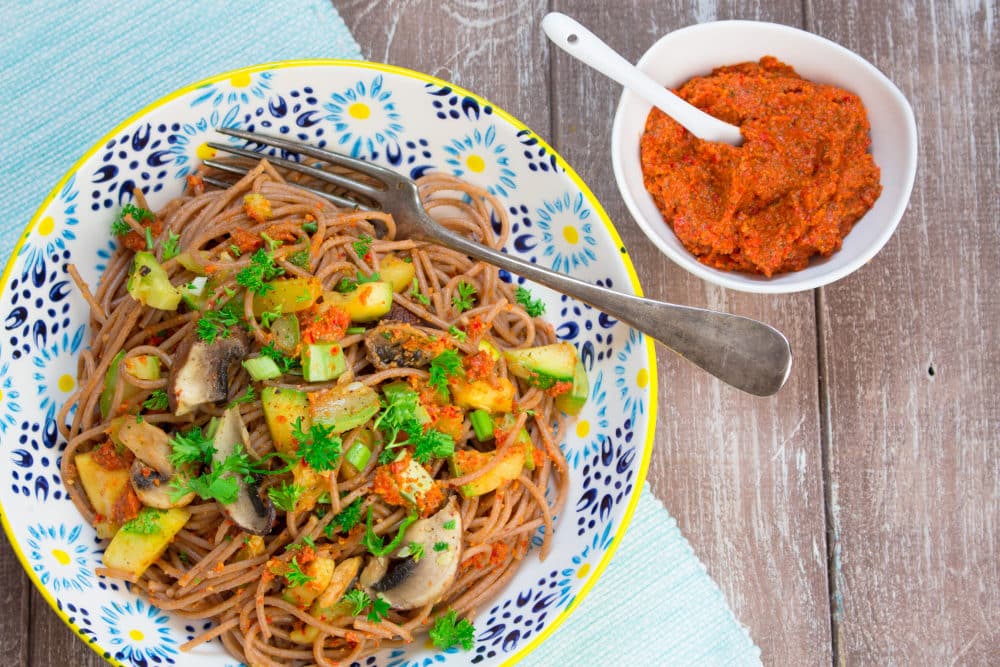
<svg viewBox="0 0 1000 667"><path fill-rule="evenodd" d="M882 186L861 99L812 83L776 58L720 67L675 91L743 134L695 138L655 107L642 173L664 219L698 260L772 276L828 256Z"/></svg>

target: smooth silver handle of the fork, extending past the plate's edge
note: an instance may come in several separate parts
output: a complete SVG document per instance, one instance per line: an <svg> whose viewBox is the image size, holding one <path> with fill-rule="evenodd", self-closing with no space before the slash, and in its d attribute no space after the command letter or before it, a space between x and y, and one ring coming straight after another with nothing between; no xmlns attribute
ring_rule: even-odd
<svg viewBox="0 0 1000 667"><path fill-rule="evenodd" d="M442 245L551 287L658 340L723 382L770 396L788 378L792 351L777 329L739 315L653 301L556 273L441 229Z"/></svg>

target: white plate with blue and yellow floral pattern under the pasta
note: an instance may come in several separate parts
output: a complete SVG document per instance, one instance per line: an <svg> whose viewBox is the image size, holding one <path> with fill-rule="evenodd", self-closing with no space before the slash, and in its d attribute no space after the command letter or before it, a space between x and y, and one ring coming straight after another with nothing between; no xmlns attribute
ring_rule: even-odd
<svg viewBox="0 0 1000 667"><path fill-rule="evenodd" d="M162 611L128 584L95 573L103 543L69 501L59 472L66 443L58 415L90 335L88 307L68 265L96 284L116 247L110 223L122 204L136 189L154 209L178 195L211 155L207 144L225 140L214 131L219 126L288 135L414 178L459 176L506 208L513 223L507 252L616 289L640 289L600 204L540 137L483 98L424 74L349 61L260 65L187 86L115 127L42 202L0 280L4 528L55 613L113 664L236 661L217 641L182 651L210 624ZM560 443L571 483L552 552L544 561L530 552L477 610L470 651L442 651L421 638L360 664L518 661L593 586L628 524L652 446L652 343L583 304L532 290L590 378L588 401Z"/></svg>

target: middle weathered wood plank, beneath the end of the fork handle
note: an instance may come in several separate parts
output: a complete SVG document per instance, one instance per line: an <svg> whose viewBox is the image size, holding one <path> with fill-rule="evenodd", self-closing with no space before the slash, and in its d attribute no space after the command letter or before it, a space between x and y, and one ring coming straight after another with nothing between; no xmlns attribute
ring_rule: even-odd
<svg viewBox="0 0 1000 667"><path fill-rule="evenodd" d="M796 25L802 18L797 1L715 7L678 0L555 3L633 62L661 35L691 23L758 18ZM646 294L761 319L792 343L792 376L770 399L731 389L661 348L649 479L737 618L749 626L764 662L829 662L813 296L712 287L659 254L631 220L611 169L611 118L620 88L561 51L555 53L554 81L556 147L616 221Z"/></svg>

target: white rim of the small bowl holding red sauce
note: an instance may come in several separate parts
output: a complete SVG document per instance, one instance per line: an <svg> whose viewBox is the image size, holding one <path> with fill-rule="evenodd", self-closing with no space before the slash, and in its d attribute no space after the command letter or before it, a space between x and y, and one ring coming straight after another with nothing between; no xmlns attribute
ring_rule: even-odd
<svg viewBox="0 0 1000 667"><path fill-rule="evenodd" d="M611 165L612 170L615 174L615 182L618 185L618 190L621 193L622 198L625 200L625 205L635 220L636 224L646 235L646 237L652 241L652 243L659 249L661 253L666 255L675 264L685 269L689 273L706 280L710 283L719 285L721 287L726 287L729 289L750 292L757 294L791 294L794 292L801 292L810 289L816 289L824 285L829 285L847 275L853 273L864 264L869 262L878 252L888 243L889 239L895 233L896 228L899 226L900 221L903 218L903 214L909 205L910 196L913 192L913 184L916 179L917 171L917 156L918 156L918 139L917 139L917 126L916 120L913 114L913 107L910 105L909 100L903 95L903 92L892 82L881 70L879 70L875 65L869 62L867 59L858 55L854 51L851 51L845 46L842 46L826 37L822 37L815 33L809 32L807 30L802 30L801 28L795 28L793 26L783 25L780 23L772 23L768 21L748 21L748 20L726 20L726 21L710 21L707 23L697 23L694 25L685 26L683 28L678 28L677 30L672 30L667 34L663 35L656 40L646 51L643 53L642 57L636 63L636 66L645 71L645 66L648 65L655 57L657 57L657 52L663 48L664 44L669 41L676 39L678 36L683 36L691 33L699 32L711 32L717 30L733 30L737 31L740 29L752 29L760 32L771 31L773 34L783 33L787 35L795 35L797 38L805 38L814 41L816 44L820 45L821 48L829 49L831 52L838 53L840 56L848 58L854 61L857 65L866 70L872 78L880 83L884 89L889 92L893 101L899 106L903 112L905 118L905 132L906 132L906 154L903 161L903 169L900 171L903 176L903 187L901 190L901 197L896 201L895 206L891 211L891 222L885 225L881 233L875 238L875 240L857 257L847 262L843 266L829 270L826 273L821 273L812 277L805 277L800 280L788 279L785 282L774 282L772 279L766 279L761 277L753 276L752 274L744 274L731 271L722 271L721 269L715 269L705 264L702 264L694 255L688 252L686 249L681 248L677 250L669 246L664 240L659 236L658 232L654 229L653 224L658 224L660 226L666 227L670 233L673 230L670 229L666 221L662 217L657 220L649 220L644 214L642 209L639 207L639 202L636 196L633 194L633 190L629 187L629 184L625 180L624 173L624 147L630 142L626 140L626 128L624 115L627 108L632 104L640 104L642 106L650 106L647 102L639 98L628 89L623 89L621 97L619 98L618 105L615 108L614 121L611 127ZM719 66L721 66L721 63ZM647 72L648 73L648 72ZM654 76L654 79L656 77ZM643 193L645 193L643 189ZM648 196L648 195L647 195ZM801 274L801 272L789 272L781 274L783 276L795 276L796 274Z"/></svg>

